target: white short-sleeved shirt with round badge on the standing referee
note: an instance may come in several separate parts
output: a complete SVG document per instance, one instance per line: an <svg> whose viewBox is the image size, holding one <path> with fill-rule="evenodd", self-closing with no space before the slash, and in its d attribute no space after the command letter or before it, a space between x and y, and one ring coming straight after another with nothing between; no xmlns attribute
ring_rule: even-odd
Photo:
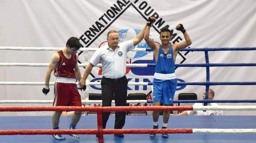
<svg viewBox="0 0 256 143"><path fill-rule="evenodd" d="M134 49L133 40L119 43L115 51L106 44L95 51L89 62L95 66L101 61L102 76L121 78L126 73L127 52L132 49Z"/></svg>

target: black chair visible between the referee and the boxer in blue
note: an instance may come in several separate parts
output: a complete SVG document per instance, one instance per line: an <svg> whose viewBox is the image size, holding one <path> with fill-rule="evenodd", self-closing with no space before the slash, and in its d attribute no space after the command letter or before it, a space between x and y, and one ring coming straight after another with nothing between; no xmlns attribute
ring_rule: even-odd
<svg viewBox="0 0 256 143"><path fill-rule="evenodd" d="M147 95L144 93L130 93L128 94L127 100L147 100ZM140 103L137 103L136 106L140 105ZM144 104L145 106L147 103ZM129 103L127 103L127 106L130 106ZM147 115L147 111L127 111L127 115L131 114L145 114Z"/></svg>

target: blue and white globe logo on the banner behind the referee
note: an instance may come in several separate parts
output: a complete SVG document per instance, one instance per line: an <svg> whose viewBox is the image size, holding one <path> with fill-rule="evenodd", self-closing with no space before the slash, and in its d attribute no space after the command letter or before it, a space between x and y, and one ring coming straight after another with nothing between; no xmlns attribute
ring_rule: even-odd
<svg viewBox="0 0 256 143"><path fill-rule="evenodd" d="M122 29L117 31L119 34L119 42L124 42L133 39L140 33L139 29ZM150 48L146 41L143 39L135 48ZM150 51L130 51L127 53L127 58L136 59L148 55Z"/></svg>

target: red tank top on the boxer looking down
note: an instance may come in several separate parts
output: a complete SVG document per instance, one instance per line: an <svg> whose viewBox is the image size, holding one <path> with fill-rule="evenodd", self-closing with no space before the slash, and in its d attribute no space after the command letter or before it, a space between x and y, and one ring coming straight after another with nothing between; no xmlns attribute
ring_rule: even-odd
<svg viewBox="0 0 256 143"><path fill-rule="evenodd" d="M67 59L64 56L62 50L58 51L57 53L59 53L60 55L60 60L58 62L58 65L54 69L54 76L76 78L74 68L77 64L77 56L73 54L71 55L70 59Z"/></svg>

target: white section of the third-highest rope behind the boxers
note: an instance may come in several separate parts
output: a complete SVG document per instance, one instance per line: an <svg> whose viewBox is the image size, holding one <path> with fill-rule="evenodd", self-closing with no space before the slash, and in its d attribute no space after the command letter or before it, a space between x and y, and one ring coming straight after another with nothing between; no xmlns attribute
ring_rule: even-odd
<svg viewBox="0 0 256 143"><path fill-rule="evenodd" d="M54 83L49 82L49 85L54 85ZM78 82L76 84L78 85ZM0 81L0 85L45 85L45 82ZM89 82L89 85L101 85L101 82ZM148 82L128 82L128 85L148 85Z"/></svg>

